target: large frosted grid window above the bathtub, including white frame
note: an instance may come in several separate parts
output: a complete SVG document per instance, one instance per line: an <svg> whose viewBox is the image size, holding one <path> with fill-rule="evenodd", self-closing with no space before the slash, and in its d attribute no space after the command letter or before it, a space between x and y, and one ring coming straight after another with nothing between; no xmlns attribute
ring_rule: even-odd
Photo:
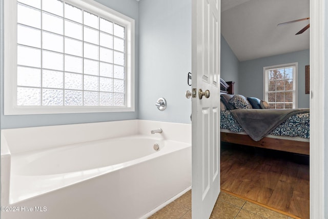
<svg viewBox="0 0 328 219"><path fill-rule="evenodd" d="M133 19L90 0L5 7L5 114L134 111Z"/></svg>

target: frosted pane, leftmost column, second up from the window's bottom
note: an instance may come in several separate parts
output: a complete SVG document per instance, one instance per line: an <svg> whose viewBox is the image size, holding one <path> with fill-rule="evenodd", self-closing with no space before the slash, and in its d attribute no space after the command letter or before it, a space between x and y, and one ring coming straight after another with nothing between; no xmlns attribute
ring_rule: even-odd
<svg viewBox="0 0 328 219"><path fill-rule="evenodd" d="M26 87L41 87L41 70L18 66L17 85Z"/></svg>

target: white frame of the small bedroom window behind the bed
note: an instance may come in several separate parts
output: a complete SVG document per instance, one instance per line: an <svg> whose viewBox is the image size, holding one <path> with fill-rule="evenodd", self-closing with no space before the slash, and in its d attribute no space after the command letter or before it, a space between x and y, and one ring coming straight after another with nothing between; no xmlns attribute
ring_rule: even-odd
<svg viewBox="0 0 328 219"><path fill-rule="evenodd" d="M298 105L297 105L298 63L297 62L263 67L263 99L269 103L269 97L268 97L269 90L267 90L267 89L269 89L268 85L267 85L267 76L268 75L267 75L266 71L271 70L271 69L286 68L286 67L295 67L295 72L293 72L293 78L294 78L294 83L293 84L295 84L295 90L293 90L295 92L295 100L293 101L293 109L297 109L297 107L298 107Z"/></svg>

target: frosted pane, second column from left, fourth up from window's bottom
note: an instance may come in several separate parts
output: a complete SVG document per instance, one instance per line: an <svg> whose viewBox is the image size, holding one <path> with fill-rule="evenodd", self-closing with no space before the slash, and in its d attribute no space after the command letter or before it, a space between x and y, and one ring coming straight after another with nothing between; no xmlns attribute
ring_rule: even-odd
<svg viewBox="0 0 328 219"><path fill-rule="evenodd" d="M55 52L63 52L64 51L64 37L48 33L43 31L42 34L42 48L47 50L52 50Z"/></svg>

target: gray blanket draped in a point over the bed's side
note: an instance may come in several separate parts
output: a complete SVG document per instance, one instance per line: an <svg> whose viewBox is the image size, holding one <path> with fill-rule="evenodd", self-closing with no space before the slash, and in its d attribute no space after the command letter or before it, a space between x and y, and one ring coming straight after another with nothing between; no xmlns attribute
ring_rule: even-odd
<svg viewBox="0 0 328 219"><path fill-rule="evenodd" d="M287 118L310 112L310 109L235 109L232 115L254 140L259 141Z"/></svg>

